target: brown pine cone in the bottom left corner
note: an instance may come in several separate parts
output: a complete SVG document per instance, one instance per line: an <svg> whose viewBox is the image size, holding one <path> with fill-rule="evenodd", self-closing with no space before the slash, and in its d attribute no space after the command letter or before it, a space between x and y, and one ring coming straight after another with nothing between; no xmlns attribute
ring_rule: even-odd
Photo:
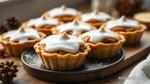
<svg viewBox="0 0 150 84"><path fill-rule="evenodd" d="M0 63L0 80L4 84L10 84L13 78L17 76L17 65L13 61L5 61Z"/></svg>

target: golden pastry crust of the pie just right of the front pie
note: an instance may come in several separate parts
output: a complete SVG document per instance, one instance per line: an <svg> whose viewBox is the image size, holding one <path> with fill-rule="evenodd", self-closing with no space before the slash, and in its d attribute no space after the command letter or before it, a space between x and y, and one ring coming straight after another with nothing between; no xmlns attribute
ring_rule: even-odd
<svg viewBox="0 0 150 84"><path fill-rule="evenodd" d="M84 41L91 48L89 57L106 59L115 56L125 42L125 38L123 35L119 35L119 38L120 39L118 41L106 39L107 41L99 42L96 44L89 42L85 38Z"/></svg>

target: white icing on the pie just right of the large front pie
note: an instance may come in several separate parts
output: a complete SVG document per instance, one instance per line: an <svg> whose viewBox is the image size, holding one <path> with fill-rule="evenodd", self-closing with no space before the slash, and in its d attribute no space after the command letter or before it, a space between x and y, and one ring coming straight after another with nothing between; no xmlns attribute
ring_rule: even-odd
<svg viewBox="0 0 150 84"><path fill-rule="evenodd" d="M89 32L86 32L80 36L81 39L84 39L85 37L90 37L90 42L92 43L98 43L101 42L103 39L111 37L113 39L119 39L119 36L110 30L92 30Z"/></svg>

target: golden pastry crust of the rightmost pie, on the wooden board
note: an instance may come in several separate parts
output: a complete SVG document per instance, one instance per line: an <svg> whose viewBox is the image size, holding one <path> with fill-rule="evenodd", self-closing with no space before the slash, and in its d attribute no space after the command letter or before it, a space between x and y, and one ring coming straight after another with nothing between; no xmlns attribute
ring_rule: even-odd
<svg viewBox="0 0 150 84"><path fill-rule="evenodd" d="M141 27L140 29L130 29L129 28L127 30L124 30L123 28L118 28L113 31L117 32L119 34L122 34L126 39L125 44L129 45L129 44L135 44L140 41L142 34L146 30L146 26L143 24L140 24L140 27Z"/></svg>

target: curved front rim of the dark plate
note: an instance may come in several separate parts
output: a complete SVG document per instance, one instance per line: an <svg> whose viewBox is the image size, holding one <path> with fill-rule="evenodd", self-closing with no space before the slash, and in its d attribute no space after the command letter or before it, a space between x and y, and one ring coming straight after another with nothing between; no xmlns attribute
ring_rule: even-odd
<svg viewBox="0 0 150 84"><path fill-rule="evenodd" d="M41 68L37 68L37 67L34 67L32 65L29 65L28 63L25 62L24 60L24 54L26 53L26 51L24 51L21 55L21 61L24 65L26 65L27 67L31 68L31 69L34 69L34 70L38 70L38 71L42 71L42 72L48 72L48 73L55 73L55 74L65 74L65 75L72 75L72 74L84 74L84 73L94 73L96 71L99 71L99 70L103 70L103 69L107 69L109 67L112 67L118 63L120 63L124 57L125 57L125 51L123 48L120 48L119 49L122 53L122 57L120 59L118 59L117 61L115 61L114 63L111 63L109 65L105 65L104 67L101 67L101 68L97 68L97 69L93 69L93 70L82 70L82 71L55 71L55 70L47 70L47 69L41 69Z"/></svg>

